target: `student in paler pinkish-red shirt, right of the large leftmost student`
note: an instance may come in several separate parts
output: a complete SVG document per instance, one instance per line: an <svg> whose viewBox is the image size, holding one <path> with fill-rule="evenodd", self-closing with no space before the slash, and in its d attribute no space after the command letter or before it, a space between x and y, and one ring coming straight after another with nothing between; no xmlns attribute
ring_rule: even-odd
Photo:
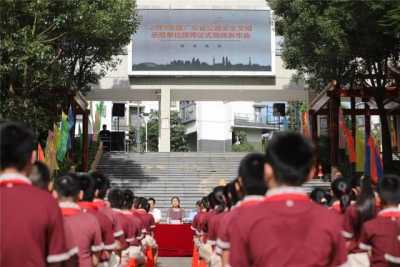
<svg viewBox="0 0 400 267"><path fill-rule="evenodd" d="M100 225L95 215L83 212L77 203L79 194L82 194L77 176L68 174L58 177L54 189L53 194L64 216L66 232L70 231L71 242L79 248L79 267L97 266L103 250Z"/></svg>

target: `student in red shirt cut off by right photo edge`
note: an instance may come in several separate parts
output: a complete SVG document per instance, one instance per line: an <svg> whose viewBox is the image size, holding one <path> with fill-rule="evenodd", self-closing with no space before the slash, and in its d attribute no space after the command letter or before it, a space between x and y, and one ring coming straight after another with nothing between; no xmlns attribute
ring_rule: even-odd
<svg viewBox="0 0 400 267"><path fill-rule="evenodd" d="M400 177L384 176L378 193L383 209L375 219L364 223L360 248L369 251L373 267L400 265Z"/></svg>

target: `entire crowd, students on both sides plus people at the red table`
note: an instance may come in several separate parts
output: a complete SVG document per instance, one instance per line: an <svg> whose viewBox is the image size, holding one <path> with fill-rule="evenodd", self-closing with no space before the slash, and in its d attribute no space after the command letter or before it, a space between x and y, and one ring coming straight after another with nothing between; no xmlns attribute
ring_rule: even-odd
<svg viewBox="0 0 400 267"><path fill-rule="evenodd" d="M155 200L111 189L101 173L50 182L33 133L0 125L0 266L155 266ZM400 266L400 177L374 188L337 178L331 193L301 187L315 173L313 145L280 133L238 177L197 202L192 266ZM171 199L169 223L184 210ZM179 238L179 237L177 237Z"/></svg>

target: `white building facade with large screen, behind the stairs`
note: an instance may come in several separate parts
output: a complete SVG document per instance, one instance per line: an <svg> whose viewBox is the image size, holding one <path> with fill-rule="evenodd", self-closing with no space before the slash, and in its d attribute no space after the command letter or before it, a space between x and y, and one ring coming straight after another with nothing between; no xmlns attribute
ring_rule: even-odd
<svg viewBox="0 0 400 267"><path fill-rule="evenodd" d="M235 134L240 132L240 129L245 130L247 141L254 145L261 142L262 135L276 130L277 124L267 120L266 106L271 107L274 102L307 100L304 85L294 82L295 71L285 69L279 52L276 53L272 16L263 26L270 35L267 36L269 43L266 49L268 51L265 55L262 53L261 56L266 57L269 66L261 68L263 63L259 62L263 62L264 59L260 59L257 55L246 54L251 54L253 50L256 50L252 48L252 45L257 46L259 35L263 32L263 29L257 26L260 25L259 21L252 21L252 16L246 14L253 11L270 14L270 8L265 0L138 0L137 9L144 16L142 29L133 36L131 44L127 47L127 53L118 56L120 65L94 85L87 96L95 103L105 101L106 116L102 118L102 124L107 124L109 129L118 130L118 124L116 124L118 119L111 116L113 103L125 103L125 116L119 118L119 130L123 131L127 131L135 124L138 110L139 113L148 113L152 109L158 110L159 151L169 152L170 113L171 109L175 108L180 110L183 116L191 150L231 151L232 144L237 143ZM185 12L179 13L182 10L186 12L186 15ZM157 14L160 16L146 17L145 14L149 11L159 12ZM192 32L186 32L189 26L184 22L188 19L188 14L192 14L191 12L193 21L196 18L201 20L199 18L201 14L205 17L199 25L194 25L196 23L193 22ZM213 12L216 15L213 15ZM235 21L235 16L230 15L229 12L241 16L240 20ZM169 16L163 14L169 14ZM168 21L171 19L171 14L175 17L172 16L172 21ZM180 14L182 18L179 17ZM223 14L222 19L218 14ZM263 19L262 16L258 17L259 20ZM213 20L210 21L210 18ZM218 21L222 21L221 25L218 25ZM222 29L225 27L224 23L230 25L226 26L228 29L226 32ZM202 27L206 30L210 27L211 30L220 27L222 33L220 35L216 33L217 37L213 37L215 40L208 40L208 35L214 36L214 33L206 32L196 35L197 33L193 32L193 29L203 30ZM160 32L160 28L173 29L176 33ZM153 32L147 36L148 29ZM250 32L235 32L242 30ZM254 40L251 39L253 37L250 34L256 35L253 36ZM185 39L192 36L195 41ZM225 39L231 37L238 39L229 40L229 44L225 43ZM250 39L248 47L240 43L246 44L246 38ZM147 41L143 42L143 40ZM156 48L162 47L167 43L166 41L176 43L177 46L151 51L152 45ZM231 43L235 42L238 44L232 46ZM219 51L219 48L225 49L225 45L230 48L223 50L221 57L210 56L216 53L215 51ZM186 52L189 55L191 55L190 51L199 52L193 58L168 62L169 55L182 56L185 49L191 49ZM247 52L243 53L242 49L247 49ZM155 59L159 62L150 62L154 59L154 53L160 53L160 56ZM225 53L229 54L229 57ZM239 56L242 58L237 59ZM169 69L163 71L162 68L166 65ZM209 70L201 71L206 68L205 66L208 66ZM191 70L191 68L195 69ZM225 71L224 68L230 68L230 71ZM92 114L93 112L94 110ZM188 115L189 113L191 115Z"/></svg>

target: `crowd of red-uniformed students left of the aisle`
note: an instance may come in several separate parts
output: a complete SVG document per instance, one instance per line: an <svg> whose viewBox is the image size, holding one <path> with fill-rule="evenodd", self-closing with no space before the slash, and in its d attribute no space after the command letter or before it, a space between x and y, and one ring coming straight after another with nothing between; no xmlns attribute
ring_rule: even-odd
<svg viewBox="0 0 400 267"><path fill-rule="evenodd" d="M0 266L155 266L146 198L98 172L51 182L24 125L2 123L0 145Z"/></svg>

